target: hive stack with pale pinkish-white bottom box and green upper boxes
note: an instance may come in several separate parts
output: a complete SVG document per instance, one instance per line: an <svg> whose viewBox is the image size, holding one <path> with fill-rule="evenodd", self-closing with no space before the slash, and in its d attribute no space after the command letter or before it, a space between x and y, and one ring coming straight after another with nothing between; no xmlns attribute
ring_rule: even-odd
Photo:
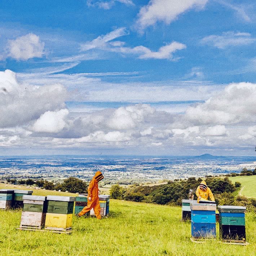
<svg viewBox="0 0 256 256"><path fill-rule="evenodd" d="M23 211L21 214L21 229L41 229L45 224L47 211L46 197L38 195L23 195Z"/></svg>

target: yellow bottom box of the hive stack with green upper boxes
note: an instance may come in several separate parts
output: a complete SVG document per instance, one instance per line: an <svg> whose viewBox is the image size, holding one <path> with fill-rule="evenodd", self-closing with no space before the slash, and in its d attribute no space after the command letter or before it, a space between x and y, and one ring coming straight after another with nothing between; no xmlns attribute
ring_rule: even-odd
<svg viewBox="0 0 256 256"><path fill-rule="evenodd" d="M72 226L72 213L46 213L45 228L70 228Z"/></svg>

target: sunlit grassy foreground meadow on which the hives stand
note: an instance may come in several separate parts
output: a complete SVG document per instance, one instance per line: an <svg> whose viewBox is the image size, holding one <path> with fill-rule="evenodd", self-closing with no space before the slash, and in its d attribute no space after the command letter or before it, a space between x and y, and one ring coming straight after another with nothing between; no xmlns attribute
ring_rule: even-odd
<svg viewBox="0 0 256 256"><path fill-rule="evenodd" d="M68 193L47 190L37 195ZM68 194L69 195L69 194ZM190 241L190 222L182 222L181 207L110 200L108 218L73 219L72 235L17 230L20 210L0 210L1 255L255 255L256 217L246 213L248 246Z"/></svg>

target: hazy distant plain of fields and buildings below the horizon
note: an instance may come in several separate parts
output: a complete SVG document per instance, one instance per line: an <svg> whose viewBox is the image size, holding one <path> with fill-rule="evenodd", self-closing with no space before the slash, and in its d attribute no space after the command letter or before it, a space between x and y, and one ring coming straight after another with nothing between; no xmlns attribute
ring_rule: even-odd
<svg viewBox="0 0 256 256"><path fill-rule="evenodd" d="M0 175L7 178L43 178L59 182L64 178L78 177L89 181L96 170L104 173L104 184L155 183L189 177L220 176L240 172L243 168L255 169L254 157L221 157L212 155L189 157L19 157L0 158ZM102 184L102 185L104 185Z"/></svg>

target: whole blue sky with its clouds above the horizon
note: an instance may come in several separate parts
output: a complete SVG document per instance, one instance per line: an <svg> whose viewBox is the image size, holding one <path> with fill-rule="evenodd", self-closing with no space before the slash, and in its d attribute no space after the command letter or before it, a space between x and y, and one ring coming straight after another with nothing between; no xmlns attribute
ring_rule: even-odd
<svg viewBox="0 0 256 256"><path fill-rule="evenodd" d="M0 154L253 155L255 9L4 1Z"/></svg>

